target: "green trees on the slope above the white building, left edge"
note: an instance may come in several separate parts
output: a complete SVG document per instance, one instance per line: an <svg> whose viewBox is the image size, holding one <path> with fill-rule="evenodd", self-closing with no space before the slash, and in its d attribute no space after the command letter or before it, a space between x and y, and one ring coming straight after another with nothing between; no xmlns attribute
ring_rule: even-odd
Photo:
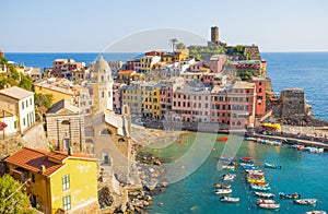
<svg viewBox="0 0 328 214"><path fill-rule="evenodd" d="M0 57L0 64L5 64L7 73L0 73L0 90L10 86L20 86L24 90L32 91L33 80L24 75L15 69L14 66L8 63L7 59Z"/></svg>

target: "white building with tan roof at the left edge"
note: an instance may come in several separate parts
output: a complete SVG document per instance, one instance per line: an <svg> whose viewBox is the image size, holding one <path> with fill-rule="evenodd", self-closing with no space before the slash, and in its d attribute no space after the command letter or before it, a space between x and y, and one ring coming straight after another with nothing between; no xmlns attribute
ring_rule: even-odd
<svg viewBox="0 0 328 214"><path fill-rule="evenodd" d="M13 114L17 129L24 133L35 123L34 93L17 86L0 91L0 108Z"/></svg>

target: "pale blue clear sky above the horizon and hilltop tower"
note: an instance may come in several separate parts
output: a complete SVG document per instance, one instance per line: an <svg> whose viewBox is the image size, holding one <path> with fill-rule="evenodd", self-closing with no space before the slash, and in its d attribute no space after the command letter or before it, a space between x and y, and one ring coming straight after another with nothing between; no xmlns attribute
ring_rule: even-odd
<svg viewBox="0 0 328 214"><path fill-rule="evenodd" d="M326 0L0 0L4 52L101 52L206 45L328 51ZM195 44L196 43L196 44Z"/></svg>

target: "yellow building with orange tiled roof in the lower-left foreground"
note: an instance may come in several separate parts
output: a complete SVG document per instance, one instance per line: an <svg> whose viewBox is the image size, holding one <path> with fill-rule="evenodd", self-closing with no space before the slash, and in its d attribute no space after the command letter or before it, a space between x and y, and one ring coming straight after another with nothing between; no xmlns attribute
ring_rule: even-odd
<svg viewBox="0 0 328 214"><path fill-rule="evenodd" d="M98 209L97 164L82 154L24 147L4 159L27 183L32 206L44 213L90 213Z"/></svg>

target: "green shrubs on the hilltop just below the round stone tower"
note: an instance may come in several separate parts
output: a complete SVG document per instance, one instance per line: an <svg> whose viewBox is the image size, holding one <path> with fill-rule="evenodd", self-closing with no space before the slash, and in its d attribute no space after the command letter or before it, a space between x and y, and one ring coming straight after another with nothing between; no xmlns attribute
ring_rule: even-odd
<svg viewBox="0 0 328 214"><path fill-rule="evenodd" d="M226 54L224 46L190 46L188 49L190 57L198 60L209 60L213 55Z"/></svg>

